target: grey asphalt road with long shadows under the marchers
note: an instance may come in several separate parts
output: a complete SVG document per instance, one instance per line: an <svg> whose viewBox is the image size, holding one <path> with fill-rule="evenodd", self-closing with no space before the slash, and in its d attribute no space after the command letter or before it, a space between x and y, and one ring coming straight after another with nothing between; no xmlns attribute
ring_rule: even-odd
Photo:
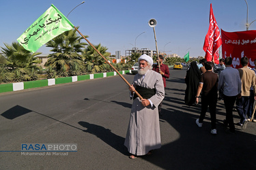
<svg viewBox="0 0 256 170"><path fill-rule="evenodd" d="M162 148L134 160L124 147L132 101L119 76L1 94L0 151L20 150L21 143L77 143L78 152L0 152L0 169L255 169L256 124L226 134L219 102L218 135L210 134L209 114L199 129L200 106L184 105L186 70L170 72L160 118ZM129 82L133 76L124 75Z"/></svg>

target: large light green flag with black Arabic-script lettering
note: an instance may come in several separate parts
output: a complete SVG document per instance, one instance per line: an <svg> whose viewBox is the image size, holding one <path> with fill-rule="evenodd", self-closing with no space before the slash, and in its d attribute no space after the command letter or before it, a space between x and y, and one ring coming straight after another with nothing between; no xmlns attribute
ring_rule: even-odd
<svg viewBox="0 0 256 170"><path fill-rule="evenodd" d="M17 41L26 50L35 52L46 42L57 35L73 29L74 25L64 16L55 5L42 14L31 26L18 37Z"/></svg>

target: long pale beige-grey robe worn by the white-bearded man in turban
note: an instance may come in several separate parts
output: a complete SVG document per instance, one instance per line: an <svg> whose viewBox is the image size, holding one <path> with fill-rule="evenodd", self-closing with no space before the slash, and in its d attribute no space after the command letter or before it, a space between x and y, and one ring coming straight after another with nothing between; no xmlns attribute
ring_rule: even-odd
<svg viewBox="0 0 256 170"><path fill-rule="evenodd" d="M130 113L130 122L126 134L124 146L131 154L141 156L150 150L161 147L160 126L158 117L158 105L165 97L165 88L162 82L162 75L156 71L147 71L145 78L142 75L135 75L133 83L145 88L156 88L156 94L150 97L153 107L144 107L139 97L133 100Z"/></svg>

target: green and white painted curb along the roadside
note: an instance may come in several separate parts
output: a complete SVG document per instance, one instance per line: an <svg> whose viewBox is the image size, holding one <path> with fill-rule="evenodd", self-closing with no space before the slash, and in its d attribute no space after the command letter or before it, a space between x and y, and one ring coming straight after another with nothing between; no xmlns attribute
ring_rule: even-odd
<svg viewBox="0 0 256 170"><path fill-rule="evenodd" d="M119 71L121 74L132 73L131 70ZM96 78L106 78L109 76L117 75L117 72L107 72L107 73L95 73L95 74L87 74L87 75L77 75L72 77L65 78L51 78L46 80L35 80L31 82L16 82L10 84L0 84L0 93L1 92L12 92L18 90L25 90L28 88L38 88L44 86L53 86L55 84L65 84L70 82L77 82L83 80L91 80Z"/></svg>

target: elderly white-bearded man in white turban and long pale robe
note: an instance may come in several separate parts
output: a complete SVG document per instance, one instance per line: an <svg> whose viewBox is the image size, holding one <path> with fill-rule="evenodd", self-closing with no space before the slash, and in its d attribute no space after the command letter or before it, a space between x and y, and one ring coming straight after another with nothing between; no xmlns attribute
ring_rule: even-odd
<svg viewBox="0 0 256 170"><path fill-rule="evenodd" d="M129 88L133 103L124 142L132 159L152 154L152 150L161 147L158 105L165 97L162 75L151 70L152 58L143 54L138 61L139 71ZM139 99L134 90L137 90L143 99Z"/></svg>

